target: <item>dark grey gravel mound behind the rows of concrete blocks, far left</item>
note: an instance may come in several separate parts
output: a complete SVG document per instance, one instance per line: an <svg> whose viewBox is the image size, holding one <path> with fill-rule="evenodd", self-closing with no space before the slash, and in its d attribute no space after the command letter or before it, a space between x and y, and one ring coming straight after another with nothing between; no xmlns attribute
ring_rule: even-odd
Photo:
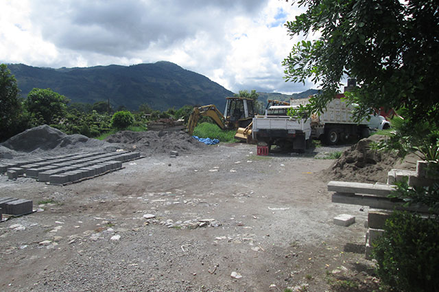
<svg viewBox="0 0 439 292"><path fill-rule="evenodd" d="M81 151L115 151L117 145L111 145L80 134L67 135L49 125L40 125L25 130L0 144L6 153L10 149L14 154L39 154L50 151L53 154L69 154Z"/></svg>

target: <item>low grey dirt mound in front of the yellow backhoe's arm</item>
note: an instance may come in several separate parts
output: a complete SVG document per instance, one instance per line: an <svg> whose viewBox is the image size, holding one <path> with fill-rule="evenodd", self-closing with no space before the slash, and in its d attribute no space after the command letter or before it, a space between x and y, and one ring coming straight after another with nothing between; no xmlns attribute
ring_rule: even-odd
<svg viewBox="0 0 439 292"><path fill-rule="evenodd" d="M191 153L208 147L182 131L121 131L108 136L105 141L109 143L119 143L123 145L124 149L140 151L141 154L144 155L169 154L169 151Z"/></svg>

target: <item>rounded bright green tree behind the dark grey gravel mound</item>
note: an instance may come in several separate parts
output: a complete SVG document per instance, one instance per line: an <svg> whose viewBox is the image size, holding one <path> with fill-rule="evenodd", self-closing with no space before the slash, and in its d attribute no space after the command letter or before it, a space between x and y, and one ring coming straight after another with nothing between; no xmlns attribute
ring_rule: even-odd
<svg viewBox="0 0 439 292"><path fill-rule="evenodd" d="M34 119L50 125L56 119L64 117L69 99L52 91L50 88L34 88L27 95L25 106ZM40 123L38 122L38 123Z"/></svg>

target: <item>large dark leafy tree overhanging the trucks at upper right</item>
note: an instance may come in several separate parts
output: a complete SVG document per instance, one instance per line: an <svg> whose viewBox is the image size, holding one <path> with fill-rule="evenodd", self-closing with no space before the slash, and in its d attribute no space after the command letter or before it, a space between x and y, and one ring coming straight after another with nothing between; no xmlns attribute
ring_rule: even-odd
<svg viewBox="0 0 439 292"><path fill-rule="evenodd" d="M307 11L285 25L303 40L283 61L285 78L320 83L322 94L308 111L322 110L337 93L342 77L360 87L347 95L370 108L403 110L411 121L439 119L439 12L436 0L298 0Z"/></svg>

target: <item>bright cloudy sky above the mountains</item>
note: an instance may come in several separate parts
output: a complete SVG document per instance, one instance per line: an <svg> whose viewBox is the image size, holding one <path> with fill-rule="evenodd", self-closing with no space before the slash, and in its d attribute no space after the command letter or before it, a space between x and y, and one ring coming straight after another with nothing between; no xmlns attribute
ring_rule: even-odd
<svg viewBox="0 0 439 292"><path fill-rule="evenodd" d="M282 60L303 12L283 0L1 0L0 62L51 68L160 60L239 90L297 93Z"/></svg>

